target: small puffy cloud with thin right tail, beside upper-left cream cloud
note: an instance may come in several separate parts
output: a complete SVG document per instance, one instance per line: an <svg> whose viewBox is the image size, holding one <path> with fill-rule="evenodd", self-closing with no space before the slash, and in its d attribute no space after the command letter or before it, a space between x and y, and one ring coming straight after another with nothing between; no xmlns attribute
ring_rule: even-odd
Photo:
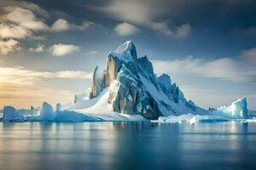
<svg viewBox="0 0 256 170"><path fill-rule="evenodd" d="M55 20L55 23L50 27L50 31L67 31L67 30L77 30L84 31L89 26L93 25L93 22L83 21L80 25L75 25L69 23L65 19Z"/></svg>

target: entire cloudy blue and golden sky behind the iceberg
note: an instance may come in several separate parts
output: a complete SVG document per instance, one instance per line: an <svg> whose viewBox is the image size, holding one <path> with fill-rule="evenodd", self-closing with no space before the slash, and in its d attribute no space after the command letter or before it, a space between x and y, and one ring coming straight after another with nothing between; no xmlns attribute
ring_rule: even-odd
<svg viewBox="0 0 256 170"><path fill-rule="evenodd" d="M73 102L132 40L160 76L208 109L256 110L256 1L0 0L0 108Z"/></svg>

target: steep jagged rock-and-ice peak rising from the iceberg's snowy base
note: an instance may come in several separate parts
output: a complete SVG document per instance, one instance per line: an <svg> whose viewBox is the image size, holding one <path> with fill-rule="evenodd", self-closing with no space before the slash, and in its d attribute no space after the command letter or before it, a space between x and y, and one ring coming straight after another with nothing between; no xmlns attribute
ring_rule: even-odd
<svg viewBox="0 0 256 170"><path fill-rule="evenodd" d="M207 111L184 98L171 78L154 74L147 56L137 58L133 42L125 42L108 54L107 68L96 69L90 99L109 87L108 104L112 111L142 115L148 119L186 113L207 114Z"/></svg>

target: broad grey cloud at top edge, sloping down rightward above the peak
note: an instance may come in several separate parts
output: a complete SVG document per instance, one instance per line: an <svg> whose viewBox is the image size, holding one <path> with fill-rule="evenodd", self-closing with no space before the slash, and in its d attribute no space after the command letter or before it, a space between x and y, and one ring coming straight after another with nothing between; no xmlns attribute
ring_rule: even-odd
<svg viewBox="0 0 256 170"><path fill-rule="evenodd" d="M165 3L162 4L160 5L160 3L156 3L155 1L131 0L128 2L112 0L104 7L96 7L94 9L98 12L108 14L108 17L115 20L129 22L136 26L146 26L169 37L177 39L188 37L191 31L189 24L170 26L169 21L164 19L166 11L170 9L166 8L168 5L164 5Z"/></svg>

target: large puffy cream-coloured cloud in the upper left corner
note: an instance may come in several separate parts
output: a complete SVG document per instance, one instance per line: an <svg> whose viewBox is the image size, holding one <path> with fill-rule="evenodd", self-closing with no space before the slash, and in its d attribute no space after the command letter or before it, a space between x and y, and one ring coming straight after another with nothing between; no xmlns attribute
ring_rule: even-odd
<svg viewBox="0 0 256 170"><path fill-rule="evenodd" d="M13 2L11 2L13 3ZM9 3L8 3L9 4ZM20 5L20 6L17 6ZM21 7L22 6L22 7ZM26 9L26 8L30 8ZM49 29L44 20L39 19L32 11L45 14L45 11L33 3L14 3L3 6L0 16L0 53L9 54L20 49L18 40L35 37L34 31Z"/></svg>

